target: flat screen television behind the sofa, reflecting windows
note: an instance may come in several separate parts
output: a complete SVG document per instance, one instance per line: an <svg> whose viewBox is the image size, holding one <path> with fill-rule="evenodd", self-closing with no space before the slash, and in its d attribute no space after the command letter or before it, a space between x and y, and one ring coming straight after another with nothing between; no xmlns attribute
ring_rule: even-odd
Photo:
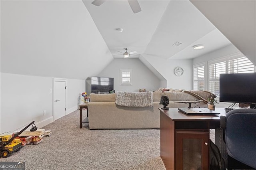
<svg viewBox="0 0 256 170"><path fill-rule="evenodd" d="M91 77L92 93L108 93L114 90L114 78L111 77Z"/></svg>

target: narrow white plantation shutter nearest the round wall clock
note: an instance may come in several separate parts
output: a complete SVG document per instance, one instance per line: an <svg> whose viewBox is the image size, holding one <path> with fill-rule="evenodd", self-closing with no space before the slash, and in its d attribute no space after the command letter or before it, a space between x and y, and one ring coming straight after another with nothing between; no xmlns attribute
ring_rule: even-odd
<svg viewBox="0 0 256 170"><path fill-rule="evenodd" d="M193 89L204 90L204 66L194 67Z"/></svg>

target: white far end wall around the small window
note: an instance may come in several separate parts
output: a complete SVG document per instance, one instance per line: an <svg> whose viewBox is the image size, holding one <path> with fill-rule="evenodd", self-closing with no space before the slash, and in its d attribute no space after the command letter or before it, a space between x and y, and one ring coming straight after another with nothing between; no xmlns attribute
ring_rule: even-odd
<svg viewBox="0 0 256 170"><path fill-rule="evenodd" d="M132 69L132 85L120 85L120 69ZM147 91L160 87L160 80L139 59L114 59L98 77L114 77L115 91Z"/></svg>

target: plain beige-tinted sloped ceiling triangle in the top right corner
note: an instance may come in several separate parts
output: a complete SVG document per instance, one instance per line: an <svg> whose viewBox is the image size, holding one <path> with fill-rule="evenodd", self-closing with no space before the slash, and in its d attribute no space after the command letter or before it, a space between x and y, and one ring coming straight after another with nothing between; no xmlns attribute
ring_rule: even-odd
<svg viewBox="0 0 256 170"><path fill-rule="evenodd" d="M256 65L255 0L190 0Z"/></svg>

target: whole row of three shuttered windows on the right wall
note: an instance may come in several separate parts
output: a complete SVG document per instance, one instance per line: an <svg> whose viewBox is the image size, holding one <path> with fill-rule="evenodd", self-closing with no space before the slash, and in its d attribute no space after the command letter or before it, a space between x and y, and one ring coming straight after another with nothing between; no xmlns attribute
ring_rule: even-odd
<svg viewBox="0 0 256 170"><path fill-rule="evenodd" d="M256 67L242 53L193 65L193 89L206 90L220 96L220 74L253 73ZM206 83L208 82L208 83Z"/></svg>

